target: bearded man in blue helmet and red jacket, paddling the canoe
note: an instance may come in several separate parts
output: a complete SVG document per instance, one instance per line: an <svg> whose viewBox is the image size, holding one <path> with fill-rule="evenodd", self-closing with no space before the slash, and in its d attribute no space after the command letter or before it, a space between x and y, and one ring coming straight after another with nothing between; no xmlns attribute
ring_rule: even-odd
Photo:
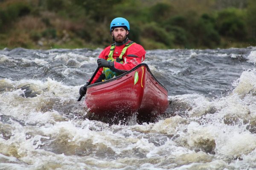
<svg viewBox="0 0 256 170"><path fill-rule="evenodd" d="M128 39L129 31L130 25L125 18L112 20L110 34L114 43L99 54L97 63L100 69L91 84L119 76L144 61L146 52L141 45ZM79 94L86 94L86 85L80 88Z"/></svg>

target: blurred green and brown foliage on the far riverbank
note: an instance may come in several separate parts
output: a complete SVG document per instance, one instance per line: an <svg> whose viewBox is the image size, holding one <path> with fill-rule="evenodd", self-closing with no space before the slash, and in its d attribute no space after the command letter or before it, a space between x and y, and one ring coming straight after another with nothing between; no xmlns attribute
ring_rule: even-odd
<svg viewBox="0 0 256 170"><path fill-rule="evenodd" d="M104 48L115 17L145 49L256 46L256 0L0 0L0 48Z"/></svg>

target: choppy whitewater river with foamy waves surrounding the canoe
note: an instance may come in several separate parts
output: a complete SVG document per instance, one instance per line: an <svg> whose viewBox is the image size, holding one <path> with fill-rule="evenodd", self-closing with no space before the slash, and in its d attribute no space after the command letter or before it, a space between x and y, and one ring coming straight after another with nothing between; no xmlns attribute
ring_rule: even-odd
<svg viewBox="0 0 256 170"><path fill-rule="evenodd" d="M112 126L77 102L101 51L0 50L0 170L256 169L256 47L147 51L169 107Z"/></svg>

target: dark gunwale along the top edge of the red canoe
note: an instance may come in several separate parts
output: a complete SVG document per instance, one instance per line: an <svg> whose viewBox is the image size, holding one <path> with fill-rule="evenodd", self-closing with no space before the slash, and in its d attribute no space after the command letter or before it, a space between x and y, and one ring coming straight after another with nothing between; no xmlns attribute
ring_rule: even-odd
<svg viewBox="0 0 256 170"><path fill-rule="evenodd" d="M167 90L167 88L165 88L165 87L154 77L154 75L151 73L151 71L150 71L148 65L145 64L145 63L141 63L141 64L135 66L134 68L132 68L131 70L126 71L124 74L121 74L121 75L119 75L119 76L117 76L117 77L115 77L115 78L113 78L113 79L109 79L109 80L106 80L106 81L104 81L104 82L98 82L98 83L94 83L94 84L92 84L92 85L88 85L87 88L90 88L90 87L93 87L93 86L96 86L96 85L102 85L102 84L105 84L105 83L108 83L108 82L115 81L116 79L119 79L119 78L121 78L121 77L124 77L125 75L131 73L132 71L136 70L137 68L140 68L141 66L145 66L145 67L148 69L148 72L149 72L149 73L151 74L151 76L154 78L154 80L155 80L162 88L164 88L167 92L169 92L169 91Z"/></svg>

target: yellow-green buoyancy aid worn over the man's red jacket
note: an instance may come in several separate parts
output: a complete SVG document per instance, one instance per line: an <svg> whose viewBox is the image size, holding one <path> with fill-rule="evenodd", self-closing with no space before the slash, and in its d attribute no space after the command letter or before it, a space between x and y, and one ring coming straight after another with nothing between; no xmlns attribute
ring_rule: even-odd
<svg viewBox="0 0 256 170"><path fill-rule="evenodd" d="M116 59L113 59L113 52L114 52L114 49L115 49L116 45L112 44L111 48L110 48L110 51L109 51L109 54L108 54L107 61L119 62L119 63L123 64L124 62L122 61L122 56L125 54L127 48L130 47L134 43L135 42L130 41L127 44L125 44L125 47L122 49L122 52L121 52L120 56L118 58L116 58ZM103 68L103 72L102 73L105 74L105 80L112 79L113 77L116 77L116 76L120 75L120 74L118 74L116 72L111 71L111 69L107 68L107 67Z"/></svg>

